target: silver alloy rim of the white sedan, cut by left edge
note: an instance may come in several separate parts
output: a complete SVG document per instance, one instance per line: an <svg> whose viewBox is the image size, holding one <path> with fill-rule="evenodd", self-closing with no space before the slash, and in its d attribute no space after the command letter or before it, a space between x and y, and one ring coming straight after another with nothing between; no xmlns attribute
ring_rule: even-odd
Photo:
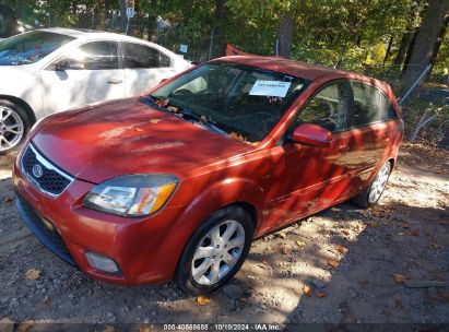
<svg viewBox="0 0 449 332"><path fill-rule="evenodd" d="M0 152L17 145L24 134L24 124L20 115L8 106L0 105Z"/></svg>

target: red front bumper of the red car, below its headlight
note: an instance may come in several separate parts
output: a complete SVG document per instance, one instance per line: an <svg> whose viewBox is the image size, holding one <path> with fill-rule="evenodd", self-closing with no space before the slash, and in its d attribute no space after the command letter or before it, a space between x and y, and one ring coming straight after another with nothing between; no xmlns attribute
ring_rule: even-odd
<svg viewBox="0 0 449 332"><path fill-rule="evenodd" d="M59 197L52 198L33 187L17 166L16 162L13 185L19 212L56 256L109 283L138 285L173 277L185 242L185 236L177 236L173 226L184 210L181 206L167 205L145 218L107 215L82 204L95 185L75 179ZM94 269L85 258L86 251L113 259L120 273Z"/></svg>

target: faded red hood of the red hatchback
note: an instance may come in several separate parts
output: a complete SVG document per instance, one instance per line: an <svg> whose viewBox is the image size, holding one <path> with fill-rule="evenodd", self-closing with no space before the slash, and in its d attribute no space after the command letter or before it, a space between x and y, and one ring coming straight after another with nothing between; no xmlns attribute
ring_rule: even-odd
<svg viewBox="0 0 449 332"><path fill-rule="evenodd" d="M56 166L94 183L147 173L182 179L201 166L251 150L138 98L47 117L32 141Z"/></svg>

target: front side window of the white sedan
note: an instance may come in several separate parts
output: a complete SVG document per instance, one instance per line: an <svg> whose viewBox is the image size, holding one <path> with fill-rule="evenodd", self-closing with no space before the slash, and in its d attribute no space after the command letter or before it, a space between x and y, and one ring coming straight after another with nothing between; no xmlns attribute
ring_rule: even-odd
<svg viewBox="0 0 449 332"><path fill-rule="evenodd" d="M75 60L80 60L85 70L118 69L118 44L116 42L93 42L79 48Z"/></svg>

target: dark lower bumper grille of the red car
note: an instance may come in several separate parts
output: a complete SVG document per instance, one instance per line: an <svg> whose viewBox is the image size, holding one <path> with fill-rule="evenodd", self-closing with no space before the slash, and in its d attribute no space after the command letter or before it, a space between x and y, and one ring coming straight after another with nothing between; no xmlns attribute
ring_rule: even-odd
<svg viewBox="0 0 449 332"><path fill-rule="evenodd" d="M16 193L16 205L22 218L34 235L57 257L71 265L75 265L69 249L54 224L39 215L19 193Z"/></svg>

